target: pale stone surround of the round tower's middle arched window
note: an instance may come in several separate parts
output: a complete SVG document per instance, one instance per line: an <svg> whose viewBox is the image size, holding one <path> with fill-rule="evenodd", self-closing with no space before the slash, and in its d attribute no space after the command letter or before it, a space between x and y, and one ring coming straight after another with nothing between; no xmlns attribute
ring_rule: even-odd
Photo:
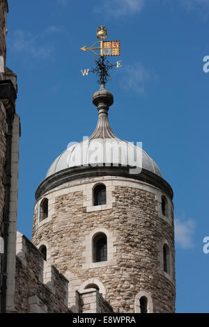
<svg viewBox="0 0 209 327"><path fill-rule="evenodd" d="M93 262L93 237L95 237L95 234L100 232L107 236L107 261ZM82 265L82 269L98 268L116 264L116 259L114 259L114 253L116 253L114 241L116 241L116 237L114 237L113 233L106 228L95 228L90 234L88 234L83 242L83 246L85 247L83 257L85 257L86 262Z"/></svg>

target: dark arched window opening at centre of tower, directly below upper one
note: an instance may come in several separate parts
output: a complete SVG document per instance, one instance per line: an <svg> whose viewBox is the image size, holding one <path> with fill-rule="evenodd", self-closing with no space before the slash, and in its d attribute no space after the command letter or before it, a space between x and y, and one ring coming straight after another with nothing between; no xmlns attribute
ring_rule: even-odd
<svg viewBox="0 0 209 327"><path fill-rule="evenodd" d="M93 262L107 261L107 236L98 233L93 238Z"/></svg>

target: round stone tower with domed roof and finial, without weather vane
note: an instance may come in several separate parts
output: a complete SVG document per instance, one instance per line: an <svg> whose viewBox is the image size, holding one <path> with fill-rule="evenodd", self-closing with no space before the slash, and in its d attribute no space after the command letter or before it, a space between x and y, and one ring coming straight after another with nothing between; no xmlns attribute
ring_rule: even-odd
<svg viewBox="0 0 209 327"><path fill-rule="evenodd" d="M95 131L56 158L38 186L33 244L68 278L74 312L89 288L114 312L174 312L173 191L144 150L114 134L113 102L104 86L94 93Z"/></svg>

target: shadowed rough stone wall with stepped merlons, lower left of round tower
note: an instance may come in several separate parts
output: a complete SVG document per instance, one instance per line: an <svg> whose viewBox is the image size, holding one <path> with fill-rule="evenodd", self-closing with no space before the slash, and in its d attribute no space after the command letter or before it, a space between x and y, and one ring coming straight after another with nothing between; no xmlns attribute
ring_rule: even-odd
<svg viewBox="0 0 209 327"><path fill-rule="evenodd" d="M17 232L15 310L18 313L70 312L66 307L68 280L52 266L49 287L43 284L44 259L38 249Z"/></svg>

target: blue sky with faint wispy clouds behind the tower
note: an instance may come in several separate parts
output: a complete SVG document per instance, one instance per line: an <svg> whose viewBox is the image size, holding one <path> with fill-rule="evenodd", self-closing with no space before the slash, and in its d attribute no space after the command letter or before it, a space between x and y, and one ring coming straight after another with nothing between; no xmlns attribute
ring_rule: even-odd
<svg viewBox="0 0 209 327"><path fill-rule="evenodd" d="M31 239L38 184L97 122L94 56L79 50L108 27L123 66L111 71L115 134L143 143L174 192L176 312L209 312L209 0L9 0L6 65L17 74L22 123L17 228Z"/></svg>

